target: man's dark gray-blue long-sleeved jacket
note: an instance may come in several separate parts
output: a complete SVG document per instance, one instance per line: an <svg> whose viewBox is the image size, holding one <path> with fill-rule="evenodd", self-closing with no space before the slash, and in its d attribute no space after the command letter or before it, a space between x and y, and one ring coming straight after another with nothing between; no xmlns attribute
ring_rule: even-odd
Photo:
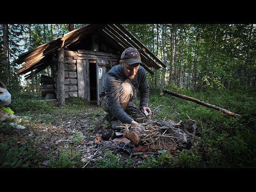
<svg viewBox="0 0 256 192"><path fill-rule="evenodd" d="M110 113L119 119L122 123L130 124L133 119L125 113L119 104L119 86L124 82L131 84L134 94L136 93L137 89L140 91L140 108L148 107L149 85L146 71L142 66L139 67L139 70L133 81L125 76L121 65L116 65L111 68L105 77L105 83L102 86L102 90L99 96L101 98L106 95ZM134 97L136 97L136 94ZM134 100L134 97L131 100Z"/></svg>

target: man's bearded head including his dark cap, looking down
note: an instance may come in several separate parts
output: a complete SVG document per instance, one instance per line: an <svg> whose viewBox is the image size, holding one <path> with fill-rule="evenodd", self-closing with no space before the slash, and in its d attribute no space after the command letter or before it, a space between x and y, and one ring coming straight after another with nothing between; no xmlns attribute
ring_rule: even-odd
<svg viewBox="0 0 256 192"><path fill-rule="evenodd" d="M133 47L129 47L123 51L120 59L119 63L124 74L133 80L139 70L140 63L142 63L139 51Z"/></svg>

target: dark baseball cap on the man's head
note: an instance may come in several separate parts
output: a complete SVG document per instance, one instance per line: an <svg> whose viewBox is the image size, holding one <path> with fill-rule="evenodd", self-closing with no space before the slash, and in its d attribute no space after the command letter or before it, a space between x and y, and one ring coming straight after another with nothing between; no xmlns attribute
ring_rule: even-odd
<svg viewBox="0 0 256 192"><path fill-rule="evenodd" d="M124 50L120 59L125 60L125 62L128 65L133 65L135 63L142 63L140 58L140 52L133 47L129 47L126 50Z"/></svg>

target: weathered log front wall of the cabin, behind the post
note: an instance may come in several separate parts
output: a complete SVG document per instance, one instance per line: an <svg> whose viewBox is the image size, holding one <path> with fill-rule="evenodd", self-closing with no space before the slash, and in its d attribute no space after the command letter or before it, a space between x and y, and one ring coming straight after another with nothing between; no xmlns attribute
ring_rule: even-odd
<svg viewBox="0 0 256 192"><path fill-rule="evenodd" d="M84 98L87 101L97 99L99 104L99 92L101 91L104 77L108 70L119 64L119 55L99 51L67 51L64 52L65 60L65 98ZM95 66L95 67L93 67ZM93 67L93 73L92 69ZM53 88L56 90L57 81L57 57L52 59ZM99 77L99 71L102 76ZM96 78L92 87L90 79ZM96 94L96 98L95 95ZM93 95L94 99L91 98Z"/></svg>

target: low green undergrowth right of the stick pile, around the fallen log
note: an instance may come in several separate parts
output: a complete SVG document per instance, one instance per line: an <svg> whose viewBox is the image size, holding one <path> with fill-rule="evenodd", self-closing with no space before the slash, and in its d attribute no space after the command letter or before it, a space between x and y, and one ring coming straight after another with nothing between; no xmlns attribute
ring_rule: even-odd
<svg viewBox="0 0 256 192"><path fill-rule="evenodd" d="M159 107L154 118L180 120L189 118L197 125L198 150L180 151L170 167L247 167L255 166L255 89L193 92L169 87L171 91L208 102L242 115L235 118L192 101L159 93L150 95L151 108ZM175 162L178 159L178 162ZM153 162L153 161L152 161ZM154 164L150 166L154 167Z"/></svg>

